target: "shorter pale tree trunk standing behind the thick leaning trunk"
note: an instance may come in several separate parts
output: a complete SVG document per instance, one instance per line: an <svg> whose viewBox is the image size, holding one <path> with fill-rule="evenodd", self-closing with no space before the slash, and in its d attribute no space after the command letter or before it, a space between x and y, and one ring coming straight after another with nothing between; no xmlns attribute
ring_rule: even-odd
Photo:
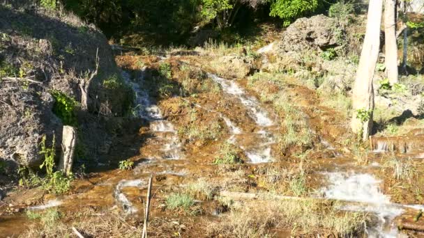
<svg viewBox="0 0 424 238"><path fill-rule="evenodd" d="M386 75L390 84L398 83L398 44L396 43L396 0L385 0L384 35L386 49Z"/></svg>

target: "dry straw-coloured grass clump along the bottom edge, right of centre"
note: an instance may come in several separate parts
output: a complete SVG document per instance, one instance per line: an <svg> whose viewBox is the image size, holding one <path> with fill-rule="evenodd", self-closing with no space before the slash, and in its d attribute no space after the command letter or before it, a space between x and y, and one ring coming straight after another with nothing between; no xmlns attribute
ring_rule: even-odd
<svg viewBox="0 0 424 238"><path fill-rule="evenodd" d="M368 217L339 209L338 205L312 201L255 201L232 211L219 222L209 223L206 232L210 237L272 237L272 229L292 228L292 235L296 236L300 228L302 235L330 230L339 237L361 237Z"/></svg>

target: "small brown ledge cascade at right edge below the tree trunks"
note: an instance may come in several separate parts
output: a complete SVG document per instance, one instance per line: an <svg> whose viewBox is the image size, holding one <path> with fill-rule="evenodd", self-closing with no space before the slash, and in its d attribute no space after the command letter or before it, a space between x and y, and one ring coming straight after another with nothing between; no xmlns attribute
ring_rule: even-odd
<svg viewBox="0 0 424 238"><path fill-rule="evenodd" d="M374 136L370 138L373 152L409 153L424 149L424 136Z"/></svg>

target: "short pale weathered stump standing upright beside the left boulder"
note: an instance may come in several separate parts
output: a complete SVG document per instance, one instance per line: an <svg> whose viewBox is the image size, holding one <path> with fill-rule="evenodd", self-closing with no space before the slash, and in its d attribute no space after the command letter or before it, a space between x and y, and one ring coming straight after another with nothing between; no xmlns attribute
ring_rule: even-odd
<svg viewBox="0 0 424 238"><path fill-rule="evenodd" d="M75 127L63 126L62 154L59 161L59 170L62 170L66 175L72 173L75 145L77 145L77 130Z"/></svg>

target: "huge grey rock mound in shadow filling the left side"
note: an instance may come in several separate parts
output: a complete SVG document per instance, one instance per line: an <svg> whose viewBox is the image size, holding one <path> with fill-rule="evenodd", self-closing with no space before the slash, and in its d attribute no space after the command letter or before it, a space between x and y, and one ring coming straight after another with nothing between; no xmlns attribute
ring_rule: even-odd
<svg viewBox="0 0 424 238"><path fill-rule="evenodd" d="M92 113L122 116L132 97L119 78L107 38L69 13L0 3L0 162L40 164L43 135L47 146L55 136L59 155L63 123L52 112L52 90L79 102L79 83L96 70L96 55L98 74L89 85L89 110L75 116L83 132L79 138L91 158L110 141L98 120L89 120Z"/></svg>

